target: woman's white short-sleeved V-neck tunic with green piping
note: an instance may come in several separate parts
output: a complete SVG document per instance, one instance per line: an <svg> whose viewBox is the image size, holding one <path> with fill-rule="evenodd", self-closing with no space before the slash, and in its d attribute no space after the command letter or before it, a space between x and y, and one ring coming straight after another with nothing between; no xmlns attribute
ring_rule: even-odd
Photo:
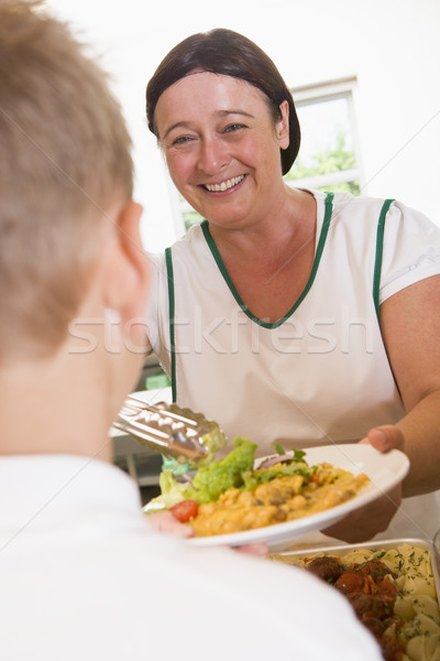
<svg viewBox="0 0 440 661"><path fill-rule="evenodd" d="M243 305L206 223L173 246L173 272L165 257L152 257L148 334L177 402L219 422L231 441L250 437L257 455L273 452L274 442L285 448L355 442L373 426L402 419L378 306L440 273L440 229L418 212L394 202L382 241L383 199L337 193L330 208L324 194L314 195L312 273L276 324ZM425 498L429 507L421 516L403 514L393 534L433 534L433 498Z"/></svg>

